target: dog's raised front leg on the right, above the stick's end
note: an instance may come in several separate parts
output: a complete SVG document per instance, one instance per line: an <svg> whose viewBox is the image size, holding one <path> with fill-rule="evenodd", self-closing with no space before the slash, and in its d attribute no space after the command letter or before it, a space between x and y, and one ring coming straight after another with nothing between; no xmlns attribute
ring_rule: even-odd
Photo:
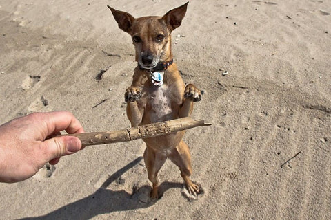
<svg viewBox="0 0 331 220"><path fill-rule="evenodd" d="M193 102L199 102L201 100L201 92L193 84L188 84L184 91L185 101L183 106L179 110L179 118L188 117L193 111Z"/></svg>

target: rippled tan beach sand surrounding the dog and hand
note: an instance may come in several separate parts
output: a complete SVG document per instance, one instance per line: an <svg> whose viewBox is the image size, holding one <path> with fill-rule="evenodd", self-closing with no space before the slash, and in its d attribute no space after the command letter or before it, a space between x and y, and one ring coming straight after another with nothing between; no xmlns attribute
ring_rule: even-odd
<svg viewBox="0 0 331 220"><path fill-rule="evenodd" d="M137 63L106 5L141 17L183 3L1 0L0 124L67 110L86 131L129 127ZM202 195L168 161L150 201L137 140L0 184L0 219L331 219L330 13L327 0L190 1L172 48L185 83L205 90L193 117L212 123L184 137Z"/></svg>

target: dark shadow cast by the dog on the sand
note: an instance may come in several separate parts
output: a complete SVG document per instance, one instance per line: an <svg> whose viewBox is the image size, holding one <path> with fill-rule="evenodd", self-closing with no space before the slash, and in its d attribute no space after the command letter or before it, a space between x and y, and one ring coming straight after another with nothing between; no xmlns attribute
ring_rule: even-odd
<svg viewBox="0 0 331 220"><path fill-rule="evenodd" d="M107 188L113 181L121 177L123 173L126 173L130 168L138 164L141 159L143 159L143 157L134 159L130 164L111 175L92 195L88 195L83 199L63 206L49 214L24 219L91 219L99 214L148 208L149 206L152 206L157 201L141 201L139 199L139 194L141 195L150 192L150 186L142 186L141 188L134 190L133 194L129 194L125 190L113 191ZM159 189L163 194L163 192L169 188L181 187L183 187L183 184L163 182Z"/></svg>

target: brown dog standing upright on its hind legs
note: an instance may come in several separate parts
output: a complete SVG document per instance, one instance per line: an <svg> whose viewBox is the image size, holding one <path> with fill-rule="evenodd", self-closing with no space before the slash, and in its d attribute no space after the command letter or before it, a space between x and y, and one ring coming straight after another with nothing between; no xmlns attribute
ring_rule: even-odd
<svg viewBox="0 0 331 220"><path fill-rule="evenodd" d="M189 84L185 87L177 65L173 63L171 32L181 25L188 3L174 8L163 17L139 17L115 10L108 5L119 28L132 36L138 66L133 81L126 89L127 115L132 126L163 122L191 115L193 102L201 100L201 92ZM143 139L143 154L148 179L152 182L150 197L159 198L157 174L169 158L179 166L188 192L197 195L200 188L192 183L191 157L183 142L184 131Z"/></svg>

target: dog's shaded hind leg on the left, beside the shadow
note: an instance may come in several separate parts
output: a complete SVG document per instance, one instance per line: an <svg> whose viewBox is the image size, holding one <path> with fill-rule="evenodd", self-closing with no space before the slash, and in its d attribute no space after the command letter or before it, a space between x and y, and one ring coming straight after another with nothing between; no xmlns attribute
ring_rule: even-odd
<svg viewBox="0 0 331 220"><path fill-rule="evenodd" d="M159 199L159 179L157 178L157 174L167 159L167 156L165 154L156 153L152 148L147 146L145 153L143 153L143 159L148 171L148 179L150 179L153 184L150 197L152 199Z"/></svg>

